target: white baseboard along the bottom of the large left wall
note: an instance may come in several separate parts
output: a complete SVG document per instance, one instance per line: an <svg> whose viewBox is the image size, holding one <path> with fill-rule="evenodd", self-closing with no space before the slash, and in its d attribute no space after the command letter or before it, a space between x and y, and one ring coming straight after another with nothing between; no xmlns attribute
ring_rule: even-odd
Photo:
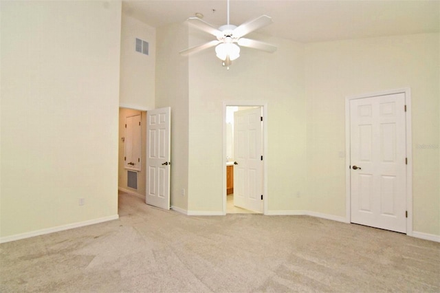
<svg viewBox="0 0 440 293"><path fill-rule="evenodd" d="M56 227L36 230L36 231L32 231L32 232L25 232L25 233L21 233L21 234L6 236L6 237L0 237L0 243L16 241L16 240L20 240L20 239L25 239L25 238L30 238L30 237L34 237L34 236L50 234L50 233L53 233L53 232L60 232L60 231L64 231L64 230L74 229L74 228L80 228L80 227L83 227L83 226L99 224L99 223L102 223L104 221L112 221L112 220L115 220L115 219L119 219L119 215L113 215L113 216L109 216L109 217L102 217L102 218L92 219L92 220L88 220L88 221L80 221L80 222L77 222L77 223L67 224L67 225L63 225L63 226L56 226Z"/></svg>

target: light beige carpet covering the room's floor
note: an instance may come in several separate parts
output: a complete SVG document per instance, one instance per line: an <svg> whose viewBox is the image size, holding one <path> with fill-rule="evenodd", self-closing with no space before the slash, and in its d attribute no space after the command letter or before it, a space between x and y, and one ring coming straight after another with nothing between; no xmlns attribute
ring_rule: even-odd
<svg viewBox="0 0 440 293"><path fill-rule="evenodd" d="M440 243L314 217L120 219L0 245L1 292L439 292Z"/></svg>

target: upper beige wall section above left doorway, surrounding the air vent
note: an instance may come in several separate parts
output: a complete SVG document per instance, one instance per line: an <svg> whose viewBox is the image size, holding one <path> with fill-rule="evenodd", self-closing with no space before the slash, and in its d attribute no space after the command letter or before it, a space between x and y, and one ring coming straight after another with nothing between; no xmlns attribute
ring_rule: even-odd
<svg viewBox="0 0 440 293"><path fill-rule="evenodd" d="M148 42L148 55L135 51L135 39ZM131 109L155 107L156 30L122 13L120 106Z"/></svg>

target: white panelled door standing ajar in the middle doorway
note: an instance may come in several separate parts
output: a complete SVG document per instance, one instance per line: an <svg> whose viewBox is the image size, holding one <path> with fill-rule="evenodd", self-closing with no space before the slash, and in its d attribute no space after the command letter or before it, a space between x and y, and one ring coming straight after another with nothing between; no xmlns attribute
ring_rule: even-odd
<svg viewBox="0 0 440 293"><path fill-rule="evenodd" d="M261 107L234 113L234 206L263 213Z"/></svg>

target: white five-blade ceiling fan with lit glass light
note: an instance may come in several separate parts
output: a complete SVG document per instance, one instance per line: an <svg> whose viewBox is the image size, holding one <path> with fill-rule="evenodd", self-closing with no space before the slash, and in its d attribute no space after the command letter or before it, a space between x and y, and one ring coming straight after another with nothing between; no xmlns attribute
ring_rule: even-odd
<svg viewBox="0 0 440 293"><path fill-rule="evenodd" d="M276 46L264 43L261 41L256 41L252 39L243 38L246 34L254 32L259 28L263 28L266 25L272 23L272 18L267 15L261 15L256 19L246 21L245 23L239 25L232 25L229 23L229 0L228 0L228 24L221 25L220 28L214 28L206 21L202 21L199 17L190 17L188 20L190 25L195 28L202 30L203 32L208 32L217 38L217 40L204 43L202 45L197 45L195 47L190 47L186 50L180 51L182 56L188 56L189 54L200 52L201 50L206 50L210 47L215 46L215 53L219 59L222 61L223 66L229 66L232 64L236 58L240 56L240 47L250 47L257 50L262 50L265 52L273 53L276 51Z"/></svg>

